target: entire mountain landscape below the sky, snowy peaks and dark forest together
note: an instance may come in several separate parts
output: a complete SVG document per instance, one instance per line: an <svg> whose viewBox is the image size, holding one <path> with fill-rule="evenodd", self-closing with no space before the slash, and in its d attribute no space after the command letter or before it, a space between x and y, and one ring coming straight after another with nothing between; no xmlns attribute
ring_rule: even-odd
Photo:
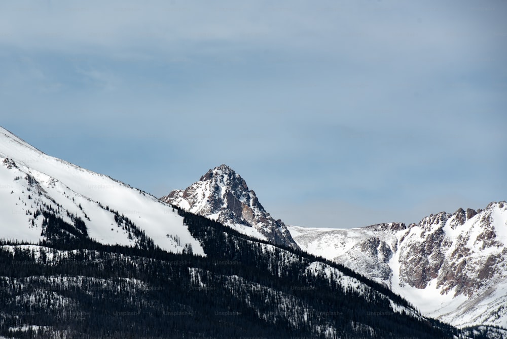
<svg viewBox="0 0 507 339"><path fill-rule="evenodd" d="M0 127L0 337L502 337L506 205L287 226L225 165L158 199Z"/></svg>

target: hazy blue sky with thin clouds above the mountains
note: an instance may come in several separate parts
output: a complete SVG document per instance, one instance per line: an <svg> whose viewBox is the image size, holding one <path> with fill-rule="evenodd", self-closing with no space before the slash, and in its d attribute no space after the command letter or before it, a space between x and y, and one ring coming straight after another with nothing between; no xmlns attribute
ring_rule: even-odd
<svg viewBox="0 0 507 339"><path fill-rule="evenodd" d="M156 196L226 163L286 223L507 199L505 1L0 4L0 124Z"/></svg>

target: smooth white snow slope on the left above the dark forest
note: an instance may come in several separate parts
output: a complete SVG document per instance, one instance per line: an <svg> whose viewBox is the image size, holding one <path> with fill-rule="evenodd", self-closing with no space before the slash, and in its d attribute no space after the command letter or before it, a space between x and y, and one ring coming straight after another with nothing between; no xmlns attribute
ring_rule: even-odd
<svg viewBox="0 0 507 339"><path fill-rule="evenodd" d="M2 127L0 201L0 238L6 240L89 238L176 253L192 248L204 254L172 207L110 177L44 154Z"/></svg>

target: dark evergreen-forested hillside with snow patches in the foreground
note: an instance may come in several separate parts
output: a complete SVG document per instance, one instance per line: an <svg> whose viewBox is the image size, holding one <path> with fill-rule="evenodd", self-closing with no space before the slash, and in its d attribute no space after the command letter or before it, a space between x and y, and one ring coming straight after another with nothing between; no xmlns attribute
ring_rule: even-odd
<svg viewBox="0 0 507 339"><path fill-rule="evenodd" d="M149 244L0 243L0 335L17 338L463 336L342 266L180 211L206 257ZM124 220L118 219L122 224ZM61 227L58 231L55 227ZM66 227L66 228L65 228ZM477 332L476 336L480 337Z"/></svg>

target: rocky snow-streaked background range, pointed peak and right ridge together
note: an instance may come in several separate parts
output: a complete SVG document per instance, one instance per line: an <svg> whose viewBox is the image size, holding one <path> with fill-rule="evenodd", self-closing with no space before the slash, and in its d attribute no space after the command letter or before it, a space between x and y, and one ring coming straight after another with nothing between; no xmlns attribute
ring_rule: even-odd
<svg viewBox="0 0 507 339"><path fill-rule="evenodd" d="M507 327L506 202L477 212L442 212L409 226L285 226L226 165L161 200L257 239L299 246L350 267L407 298L425 315L461 327Z"/></svg>

